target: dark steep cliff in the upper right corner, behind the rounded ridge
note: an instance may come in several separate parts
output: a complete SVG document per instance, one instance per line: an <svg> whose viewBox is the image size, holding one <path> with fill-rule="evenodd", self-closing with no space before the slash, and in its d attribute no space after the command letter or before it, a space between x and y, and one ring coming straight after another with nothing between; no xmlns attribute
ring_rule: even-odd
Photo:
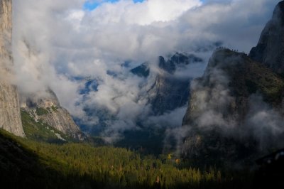
<svg viewBox="0 0 284 189"><path fill-rule="evenodd" d="M276 6L258 45L251 49L250 57L278 74L284 74L284 1Z"/></svg>

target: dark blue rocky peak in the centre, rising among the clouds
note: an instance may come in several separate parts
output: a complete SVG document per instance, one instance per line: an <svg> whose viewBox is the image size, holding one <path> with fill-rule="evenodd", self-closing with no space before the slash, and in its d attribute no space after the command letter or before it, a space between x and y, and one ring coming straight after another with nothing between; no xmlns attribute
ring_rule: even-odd
<svg viewBox="0 0 284 189"><path fill-rule="evenodd" d="M203 60L195 55L175 53L170 59L159 57L160 73L155 78L155 83L148 90L149 101L154 114L163 114L178 107L183 107L188 102L190 95L191 78L180 78L175 75L178 68Z"/></svg>

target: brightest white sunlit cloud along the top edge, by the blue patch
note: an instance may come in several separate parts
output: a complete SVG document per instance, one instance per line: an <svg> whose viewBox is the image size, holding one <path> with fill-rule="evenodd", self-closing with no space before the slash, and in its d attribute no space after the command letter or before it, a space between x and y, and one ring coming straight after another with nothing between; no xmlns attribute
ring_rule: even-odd
<svg viewBox="0 0 284 189"><path fill-rule="evenodd" d="M153 22L173 21L185 11L200 6L200 0L151 0L135 4L133 1L106 2L89 12L88 21L103 25L127 23L149 25Z"/></svg>

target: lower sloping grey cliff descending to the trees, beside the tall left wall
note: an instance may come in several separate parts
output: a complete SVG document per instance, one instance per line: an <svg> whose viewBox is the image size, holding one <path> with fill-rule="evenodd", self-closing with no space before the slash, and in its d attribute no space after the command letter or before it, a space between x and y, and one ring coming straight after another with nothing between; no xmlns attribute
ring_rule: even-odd
<svg viewBox="0 0 284 189"><path fill-rule="evenodd" d="M53 126L62 133L72 136L75 139L84 140L85 135L75 124L67 110L60 106L55 93L48 90L46 97L21 98L21 108L25 109L31 117L38 121L39 119L46 124Z"/></svg>

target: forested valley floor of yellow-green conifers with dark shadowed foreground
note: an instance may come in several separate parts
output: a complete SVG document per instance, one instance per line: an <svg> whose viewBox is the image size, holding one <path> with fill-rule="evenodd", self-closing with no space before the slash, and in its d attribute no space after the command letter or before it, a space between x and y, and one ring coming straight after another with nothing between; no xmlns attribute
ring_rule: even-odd
<svg viewBox="0 0 284 189"><path fill-rule="evenodd" d="M0 160L5 188L244 188L246 183L214 168L182 168L170 154L155 158L111 146L48 144L2 130Z"/></svg>

